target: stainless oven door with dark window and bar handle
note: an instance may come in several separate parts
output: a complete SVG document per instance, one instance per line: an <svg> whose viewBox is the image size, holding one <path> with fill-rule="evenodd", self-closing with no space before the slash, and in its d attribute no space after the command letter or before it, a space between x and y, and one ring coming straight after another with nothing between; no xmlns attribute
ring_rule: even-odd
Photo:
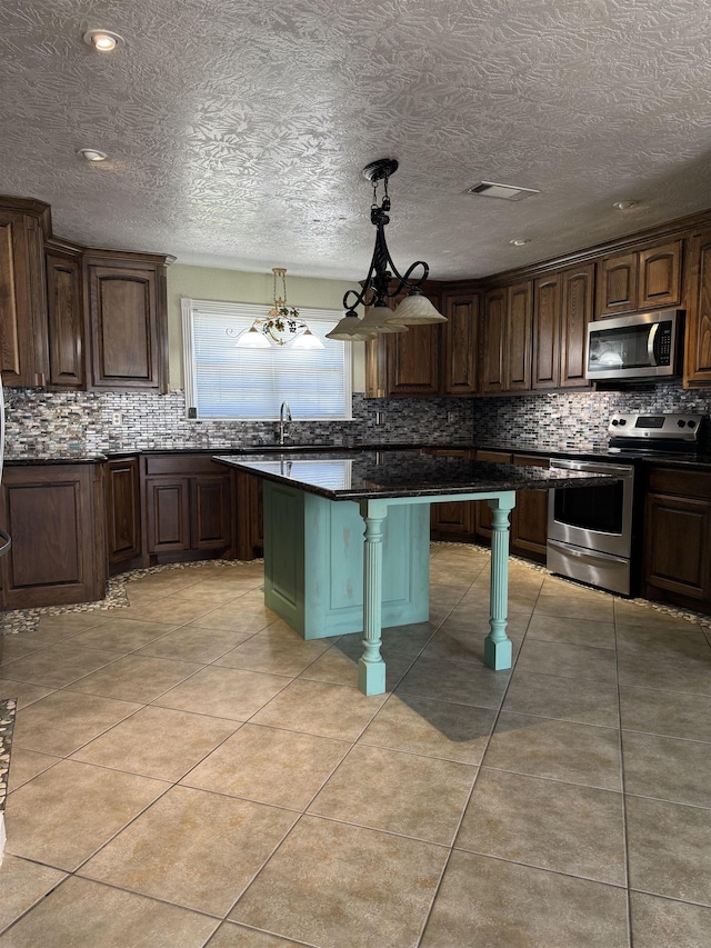
<svg viewBox="0 0 711 948"><path fill-rule="evenodd" d="M632 548L634 468L604 461L554 458L551 469L607 473L620 478L601 487L551 490L548 539L582 550L629 558Z"/></svg>

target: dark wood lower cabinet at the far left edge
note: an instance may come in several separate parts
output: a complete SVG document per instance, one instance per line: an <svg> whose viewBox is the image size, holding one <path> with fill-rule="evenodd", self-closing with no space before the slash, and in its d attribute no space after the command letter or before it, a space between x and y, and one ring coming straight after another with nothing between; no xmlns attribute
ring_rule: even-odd
<svg viewBox="0 0 711 948"><path fill-rule="evenodd" d="M26 609L102 599L106 552L101 465L8 466L0 560L2 606Z"/></svg>

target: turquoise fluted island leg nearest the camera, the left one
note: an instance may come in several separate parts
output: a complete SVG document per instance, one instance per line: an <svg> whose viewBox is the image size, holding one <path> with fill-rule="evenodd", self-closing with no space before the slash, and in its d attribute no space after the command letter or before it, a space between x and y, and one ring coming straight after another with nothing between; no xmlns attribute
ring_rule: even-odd
<svg viewBox="0 0 711 948"><path fill-rule="evenodd" d="M388 505L362 500L360 513L365 521L363 550L363 653L358 661L358 687L363 695L385 690L385 662L380 655L382 602L382 530Z"/></svg>

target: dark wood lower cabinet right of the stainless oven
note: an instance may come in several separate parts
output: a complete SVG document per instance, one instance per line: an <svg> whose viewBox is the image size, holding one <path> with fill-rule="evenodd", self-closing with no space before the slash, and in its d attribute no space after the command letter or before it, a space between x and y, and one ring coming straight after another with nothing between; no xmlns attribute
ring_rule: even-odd
<svg viewBox="0 0 711 948"><path fill-rule="evenodd" d="M642 592L711 612L711 473L675 468L650 472Z"/></svg>

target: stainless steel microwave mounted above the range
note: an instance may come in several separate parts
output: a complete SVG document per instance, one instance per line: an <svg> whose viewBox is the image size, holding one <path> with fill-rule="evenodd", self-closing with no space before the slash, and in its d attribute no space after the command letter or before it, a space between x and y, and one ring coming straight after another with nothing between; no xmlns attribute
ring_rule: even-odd
<svg viewBox="0 0 711 948"><path fill-rule="evenodd" d="M683 310L634 312L588 323L585 378L657 379L681 371Z"/></svg>

